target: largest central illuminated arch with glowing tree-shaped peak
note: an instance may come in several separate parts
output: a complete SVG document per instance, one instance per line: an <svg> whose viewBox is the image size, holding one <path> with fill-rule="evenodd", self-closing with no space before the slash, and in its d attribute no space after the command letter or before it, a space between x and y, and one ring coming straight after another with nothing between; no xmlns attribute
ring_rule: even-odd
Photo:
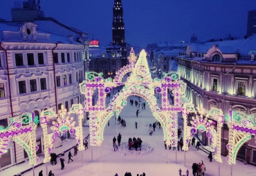
<svg viewBox="0 0 256 176"><path fill-rule="evenodd" d="M178 112L184 110L180 95L185 92L186 84L180 80L176 72L164 73L161 79L152 79L146 56L147 53L142 50L136 61L134 50L131 48L129 65L122 67L114 79L104 79L102 72L86 72L86 80L80 84L80 91L86 98L84 110L89 112L91 146L102 144L107 121L115 113L118 117L123 106L127 104L127 97L131 95L143 97L148 102L154 117L163 127L164 140L167 141L167 145L177 146ZM131 75L122 82L123 77L129 72ZM109 106L106 107L107 93L118 86L124 87L116 95L113 95ZM170 104L168 100L168 90L171 90L174 96L173 104ZM162 95L161 108L156 102L155 92ZM98 95L98 101L93 105L93 95L95 94Z"/></svg>

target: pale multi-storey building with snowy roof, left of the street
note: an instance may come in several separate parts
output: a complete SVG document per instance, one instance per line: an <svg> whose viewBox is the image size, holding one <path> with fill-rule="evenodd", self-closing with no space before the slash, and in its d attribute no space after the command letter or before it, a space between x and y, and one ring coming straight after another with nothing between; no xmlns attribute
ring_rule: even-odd
<svg viewBox="0 0 256 176"><path fill-rule="evenodd" d="M24 2L23 8L15 3L13 21L0 21L0 125L4 127L10 117L28 112L40 116L42 110L57 111L61 105L69 109L84 101L78 84L87 69L88 34L45 18L34 2ZM29 10L33 15L28 19ZM36 134L39 154L44 151L41 127ZM24 148L11 142L1 155L0 170L27 159Z"/></svg>

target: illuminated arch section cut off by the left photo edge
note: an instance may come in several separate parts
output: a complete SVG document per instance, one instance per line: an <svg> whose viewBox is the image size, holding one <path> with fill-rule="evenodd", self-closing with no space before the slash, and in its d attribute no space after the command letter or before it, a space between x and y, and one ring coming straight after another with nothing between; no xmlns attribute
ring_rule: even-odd
<svg viewBox="0 0 256 176"><path fill-rule="evenodd" d="M0 126L0 155L8 149L10 140L17 142L28 154L30 165L36 165L38 146L36 146L35 130L39 120L35 113L25 113L17 117L10 117L10 124L4 128Z"/></svg>

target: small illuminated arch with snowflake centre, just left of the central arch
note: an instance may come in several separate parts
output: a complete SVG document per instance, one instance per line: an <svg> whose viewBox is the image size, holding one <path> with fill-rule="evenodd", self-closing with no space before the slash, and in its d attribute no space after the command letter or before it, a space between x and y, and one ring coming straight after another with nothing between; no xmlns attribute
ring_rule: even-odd
<svg viewBox="0 0 256 176"><path fill-rule="evenodd" d="M78 125L75 126L73 116L78 115ZM40 124L44 133L44 163L51 160L51 150L55 140L60 137L62 133L69 133L75 136L78 144L78 150L84 150L83 145L83 133L82 133L82 121L84 119L84 110L81 104L73 104L69 112L67 112L64 106L61 106L58 114L53 109L43 110L40 117ZM52 122L52 133L48 134L48 122Z"/></svg>

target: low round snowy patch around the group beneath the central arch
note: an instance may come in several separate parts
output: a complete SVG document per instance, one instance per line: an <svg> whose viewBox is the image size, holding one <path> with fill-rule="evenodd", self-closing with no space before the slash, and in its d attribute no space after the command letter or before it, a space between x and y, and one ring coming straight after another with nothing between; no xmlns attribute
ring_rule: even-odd
<svg viewBox="0 0 256 176"><path fill-rule="evenodd" d="M135 148L131 148L131 150L129 150L128 142L122 142L118 147L118 151L120 153L123 153L125 156L140 157L153 153L154 148L147 144L147 142L143 142L143 144L141 145L141 151L140 148L137 148L137 150L135 150Z"/></svg>

